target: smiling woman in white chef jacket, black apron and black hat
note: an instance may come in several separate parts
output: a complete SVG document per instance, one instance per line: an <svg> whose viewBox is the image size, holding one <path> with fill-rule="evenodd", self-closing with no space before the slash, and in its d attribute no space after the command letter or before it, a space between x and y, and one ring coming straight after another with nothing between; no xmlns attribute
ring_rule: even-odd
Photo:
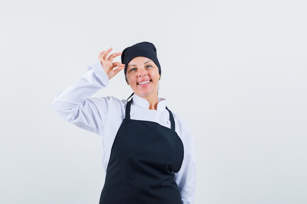
<svg viewBox="0 0 307 204"><path fill-rule="evenodd" d="M53 101L57 112L102 136L106 173L100 204L193 204L196 167L189 127L158 97L156 48L142 42L99 54L77 84ZM113 62L120 56L122 63ZM131 100L90 98L124 69Z"/></svg>

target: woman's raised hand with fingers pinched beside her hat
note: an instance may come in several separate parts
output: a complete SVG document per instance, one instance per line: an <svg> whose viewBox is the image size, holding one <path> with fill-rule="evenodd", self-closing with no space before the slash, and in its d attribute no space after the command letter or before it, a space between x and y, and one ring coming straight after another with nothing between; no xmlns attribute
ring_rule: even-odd
<svg viewBox="0 0 307 204"><path fill-rule="evenodd" d="M110 51L112 51L112 47L108 48L106 51L102 51L99 53L98 59L102 65L103 70L108 75L108 78L111 79L118 72L125 68L125 65L119 62L113 62L114 58L120 56L122 52L115 52L111 54L109 57Z"/></svg>

